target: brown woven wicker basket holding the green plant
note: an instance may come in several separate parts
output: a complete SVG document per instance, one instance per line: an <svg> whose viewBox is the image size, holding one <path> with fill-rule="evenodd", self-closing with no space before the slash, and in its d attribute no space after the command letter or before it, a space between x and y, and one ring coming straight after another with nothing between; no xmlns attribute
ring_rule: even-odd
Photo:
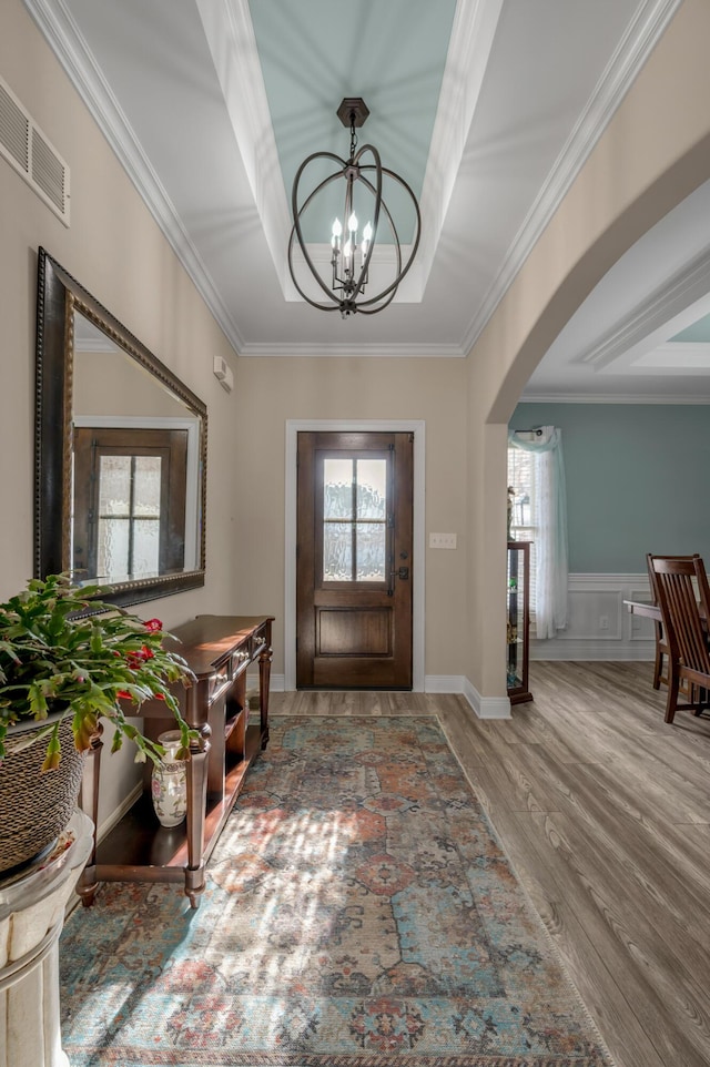
<svg viewBox="0 0 710 1067"><path fill-rule="evenodd" d="M74 748L71 722L65 715L60 723L59 766L44 772L44 741L13 751L13 742L37 733L37 723L8 731L8 755L0 763L0 877L53 844L75 811L85 753Z"/></svg>

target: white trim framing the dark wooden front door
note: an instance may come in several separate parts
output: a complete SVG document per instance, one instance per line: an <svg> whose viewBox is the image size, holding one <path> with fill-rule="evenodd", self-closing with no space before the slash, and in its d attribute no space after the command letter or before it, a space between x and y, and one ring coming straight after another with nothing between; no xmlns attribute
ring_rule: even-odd
<svg viewBox="0 0 710 1067"><path fill-rule="evenodd" d="M284 589L284 689L296 688L296 519L298 434L369 433L414 434L414 498L412 568L412 691L424 692L424 419L286 419L285 589Z"/></svg>

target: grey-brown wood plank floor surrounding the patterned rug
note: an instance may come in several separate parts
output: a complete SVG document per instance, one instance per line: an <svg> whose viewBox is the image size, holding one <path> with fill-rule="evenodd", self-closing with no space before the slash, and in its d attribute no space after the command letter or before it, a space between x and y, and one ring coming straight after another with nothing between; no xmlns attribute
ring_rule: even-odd
<svg viewBox="0 0 710 1067"><path fill-rule="evenodd" d="M273 714L437 714L616 1067L710 1065L710 717L650 663L530 664L532 703L273 693Z"/></svg>

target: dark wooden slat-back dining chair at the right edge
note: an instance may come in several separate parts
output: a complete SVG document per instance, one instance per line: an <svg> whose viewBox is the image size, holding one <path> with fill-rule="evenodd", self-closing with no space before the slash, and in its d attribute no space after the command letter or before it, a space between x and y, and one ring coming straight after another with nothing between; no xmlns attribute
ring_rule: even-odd
<svg viewBox="0 0 710 1067"><path fill-rule="evenodd" d="M710 649L707 622L710 619L710 588L699 555L690 558L650 556L649 566L668 648L666 722L672 722L679 710L692 710L700 714L708 705ZM680 704L679 690L683 683L688 685L689 703Z"/></svg>

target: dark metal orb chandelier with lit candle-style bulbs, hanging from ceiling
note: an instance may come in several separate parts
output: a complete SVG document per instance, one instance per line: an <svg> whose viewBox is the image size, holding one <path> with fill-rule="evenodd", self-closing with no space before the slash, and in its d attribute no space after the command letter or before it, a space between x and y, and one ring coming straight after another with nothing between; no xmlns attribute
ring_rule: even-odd
<svg viewBox="0 0 710 1067"><path fill-rule="evenodd" d="M298 167L291 195L293 228L288 241L288 270L293 283L304 301L313 307L323 312L339 311L343 318L354 315L355 312L362 315L374 315L387 307L394 299L399 283L412 266L419 246L422 219L419 205L412 189L403 177L382 165L379 152L372 144L364 144L361 149L357 149L355 130L363 125L368 114L369 110L362 98L346 96L343 100L337 110L337 116L344 126L349 126L349 159L342 160L333 152L314 152ZM365 162L365 159L372 160L372 162ZM318 182L311 193L301 199L301 184L304 173L316 161L327 161L328 164L335 163L337 170ZM322 166L322 163L318 165ZM383 175L397 183L408 195L414 206L414 238L409 246L408 258L404 263L397 228L389 209L383 200ZM315 199L326 186L338 180L345 182L343 222L339 217L336 217L333 223L329 263L322 273L308 253L302 226L305 213L312 207ZM358 216L359 219L367 219L362 235ZM383 273L386 275L384 284L381 277L377 283L378 291L374 294L366 294L371 260L378 236L382 238L381 245L392 244L394 256L387 257L389 258L388 267L378 267L378 275ZM293 253L296 244L303 255L304 264L326 299L323 299L323 297L315 299L304 292L294 268ZM373 264L374 266L375 264Z"/></svg>

